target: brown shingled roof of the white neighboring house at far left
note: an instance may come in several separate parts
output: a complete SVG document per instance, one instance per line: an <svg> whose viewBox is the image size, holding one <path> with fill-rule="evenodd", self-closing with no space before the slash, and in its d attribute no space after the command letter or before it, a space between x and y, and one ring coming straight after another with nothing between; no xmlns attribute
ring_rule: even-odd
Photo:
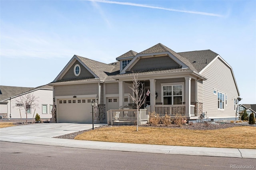
<svg viewBox="0 0 256 170"><path fill-rule="evenodd" d="M14 87L0 85L0 101L35 89L52 89L52 86L42 85L39 87Z"/></svg>

